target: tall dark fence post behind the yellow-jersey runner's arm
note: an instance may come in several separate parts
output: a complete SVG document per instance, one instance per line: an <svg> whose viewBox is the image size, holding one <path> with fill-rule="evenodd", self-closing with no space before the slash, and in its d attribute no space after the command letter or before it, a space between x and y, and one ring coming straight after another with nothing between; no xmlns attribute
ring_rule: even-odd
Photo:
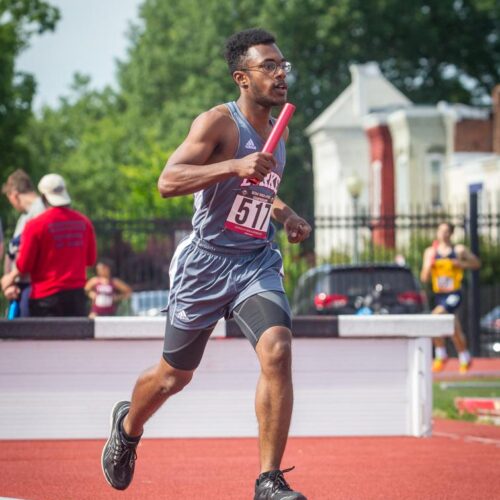
<svg viewBox="0 0 500 500"><path fill-rule="evenodd" d="M478 234L478 193L482 190L482 184L471 184L469 186L469 235L471 252L479 257L479 234ZM469 338L470 349L473 356L480 354L480 293L479 293L479 271L471 271L471 286L469 289Z"/></svg>

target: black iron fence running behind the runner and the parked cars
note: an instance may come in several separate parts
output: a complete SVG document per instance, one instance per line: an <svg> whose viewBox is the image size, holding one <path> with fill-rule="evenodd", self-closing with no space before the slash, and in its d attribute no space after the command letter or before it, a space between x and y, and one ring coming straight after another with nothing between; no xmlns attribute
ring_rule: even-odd
<svg viewBox="0 0 500 500"><path fill-rule="evenodd" d="M318 214L307 243L290 245L278 233L287 293L292 296L303 272L326 262L396 262L408 265L418 277L424 249L435 238L438 224L449 221L456 227L454 241L471 247L482 260L481 270L467 273L464 282L465 304L461 315L469 340L476 353L484 351L481 346L485 339L491 340L489 351L495 342L500 350L499 212L416 209L390 217L374 217L363 210L355 215ZM110 218L93 223L99 255L114 262L116 276L129 283L134 291L169 288L170 261L177 244L191 229L190 219Z"/></svg>

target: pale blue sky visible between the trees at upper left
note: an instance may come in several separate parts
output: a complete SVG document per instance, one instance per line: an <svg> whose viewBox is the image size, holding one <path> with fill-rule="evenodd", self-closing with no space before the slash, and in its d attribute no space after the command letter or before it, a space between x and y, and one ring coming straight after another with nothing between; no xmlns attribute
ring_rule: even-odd
<svg viewBox="0 0 500 500"><path fill-rule="evenodd" d="M34 36L17 60L17 69L37 80L34 108L57 105L68 93L75 72L88 74L92 86L116 82L116 59L126 55L126 33L138 18L142 0L48 0L61 11L54 33Z"/></svg>

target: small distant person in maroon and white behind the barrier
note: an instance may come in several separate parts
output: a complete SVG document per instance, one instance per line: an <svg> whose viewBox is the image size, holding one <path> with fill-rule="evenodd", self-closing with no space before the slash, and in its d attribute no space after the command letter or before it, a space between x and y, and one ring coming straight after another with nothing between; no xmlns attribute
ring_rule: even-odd
<svg viewBox="0 0 500 500"><path fill-rule="evenodd" d="M113 264L107 259L99 259L96 265L97 276L90 278L85 291L92 301L89 317L114 316L118 304L132 294L132 289L122 280L113 278Z"/></svg>

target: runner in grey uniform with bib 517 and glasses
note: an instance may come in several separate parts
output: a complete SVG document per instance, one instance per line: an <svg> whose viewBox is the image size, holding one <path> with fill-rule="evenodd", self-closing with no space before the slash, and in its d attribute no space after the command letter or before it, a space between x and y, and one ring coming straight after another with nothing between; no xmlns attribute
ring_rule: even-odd
<svg viewBox="0 0 500 500"><path fill-rule="evenodd" d="M193 232L171 263L162 359L139 377L132 401L113 408L102 466L111 486L127 488L144 424L189 383L214 325L232 315L261 366L256 392L261 474L255 499L302 500L306 497L285 481L287 471L280 470L293 405L292 334L270 218L284 225L292 243L305 240L311 227L276 196L284 140L274 156L259 152L272 128L271 109L286 102L291 65L274 37L261 29L229 38L225 57L239 99L194 120L158 181L165 198L194 193Z"/></svg>

